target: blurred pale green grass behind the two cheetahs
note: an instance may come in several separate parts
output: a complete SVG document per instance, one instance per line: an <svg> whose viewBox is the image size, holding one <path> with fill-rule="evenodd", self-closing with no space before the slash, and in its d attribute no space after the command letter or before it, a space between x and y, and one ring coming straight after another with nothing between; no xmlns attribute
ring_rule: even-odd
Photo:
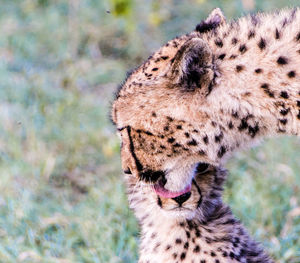
<svg viewBox="0 0 300 263"><path fill-rule="evenodd" d="M215 6L298 1L3 0L0 262L135 262L138 227L108 121L125 71ZM225 199L278 262L300 262L299 140L237 154Z"/></svg>

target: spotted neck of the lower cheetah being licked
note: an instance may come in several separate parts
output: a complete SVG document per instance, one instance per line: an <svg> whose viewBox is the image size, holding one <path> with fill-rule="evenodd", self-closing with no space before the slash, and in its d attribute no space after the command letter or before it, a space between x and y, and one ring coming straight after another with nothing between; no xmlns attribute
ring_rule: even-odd
<svg viewBox="0 0 300 263"><path fill-rule="evenodd" d="M129 202L141 226L139 263L273 261L253 241L230 208L207 200L191 219L179 218L150 201L153 193L129 186Z"/></svg>

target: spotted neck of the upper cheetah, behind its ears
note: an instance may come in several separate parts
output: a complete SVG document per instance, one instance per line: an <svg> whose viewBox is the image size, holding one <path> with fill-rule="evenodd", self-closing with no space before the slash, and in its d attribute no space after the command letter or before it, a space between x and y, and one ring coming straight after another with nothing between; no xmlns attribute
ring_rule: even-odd
<svg viewBox="0 0 300 263"><path fill-rule="evenodd" d="M220 75L205 104L214 120L211 136L224 134L224 151L212 159L257 138L299 136L299 28L295 9L245 17L203 36Z"/></svg>

